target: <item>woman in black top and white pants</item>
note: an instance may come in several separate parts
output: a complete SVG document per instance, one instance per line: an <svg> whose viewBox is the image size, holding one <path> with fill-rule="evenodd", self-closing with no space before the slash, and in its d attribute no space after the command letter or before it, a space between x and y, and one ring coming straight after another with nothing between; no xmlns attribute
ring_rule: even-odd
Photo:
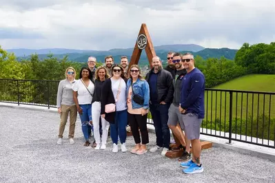
<svg viewBox="0 0 275 183"><path fill-rule="evenodd" d="M106 79L110 78L107 69L103 66L97 67L94 80L94 97L92 98L92 119L94 125L94 140L96 141L96 147L94 149L106 149L106 141L108 137L108 129L110 124L104 118L101 117L101 89ZM102 136L100 138L99 133L99 120L101 118L102 124Z"/></svg>

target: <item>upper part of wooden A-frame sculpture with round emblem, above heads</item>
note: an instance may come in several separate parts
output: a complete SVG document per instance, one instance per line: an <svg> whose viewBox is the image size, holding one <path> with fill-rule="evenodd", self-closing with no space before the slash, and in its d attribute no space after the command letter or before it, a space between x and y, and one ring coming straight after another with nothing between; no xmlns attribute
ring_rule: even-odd
<svg viewBox="0 0 275 183"><path fill-rule="evenodd" d="M150 63L150 68L152 68L152 58L156 56L156 52L154 51L154 47L145 23L141 24L141 30L139 30L136 45L134 45L134 51L128 66L128 72L131 65L139 64L139 58L141 57L141 52L143 49L145 49L148 61Z"/></svg>

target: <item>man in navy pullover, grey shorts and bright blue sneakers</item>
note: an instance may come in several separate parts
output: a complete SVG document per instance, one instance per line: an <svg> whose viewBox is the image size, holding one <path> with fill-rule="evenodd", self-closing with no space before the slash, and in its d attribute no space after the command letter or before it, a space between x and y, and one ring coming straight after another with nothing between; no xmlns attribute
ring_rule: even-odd
<svg viewBox="0 0 275 183"><path fill-rule="evenodd" d="M191 140L192 160L182 162L183 173L202 173L200 129L204 118L205 76L194 66L194 56L190 53L183 55L183 66L187 74L183 78L181 89L181 105L179 111L183 114L185 135Z"/></svg>

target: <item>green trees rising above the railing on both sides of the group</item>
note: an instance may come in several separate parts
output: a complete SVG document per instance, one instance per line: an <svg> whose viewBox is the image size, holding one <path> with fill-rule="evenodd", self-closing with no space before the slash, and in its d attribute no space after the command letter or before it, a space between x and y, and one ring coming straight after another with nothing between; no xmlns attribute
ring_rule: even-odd
<svg viewBox="0 0 275 183"><path fill-rule="evenodd" d="M206 49L205 49L206 50ZM167 53L163 53L167 56ZM2 50L0 46L0 78L61 80L65 69L74 67L77 72L85 63L69 61L68 56L59 59L49 54L41 60L37 54L17 61L14 54ZM234 60L221 56L207 58L196 55L195 65L205 74L206 87L214 87L245 74L275 74L275 43L249 45L244 43ZM97 63L101 65L102 63ZM77 74L77 78L79 73Z"/></svg>

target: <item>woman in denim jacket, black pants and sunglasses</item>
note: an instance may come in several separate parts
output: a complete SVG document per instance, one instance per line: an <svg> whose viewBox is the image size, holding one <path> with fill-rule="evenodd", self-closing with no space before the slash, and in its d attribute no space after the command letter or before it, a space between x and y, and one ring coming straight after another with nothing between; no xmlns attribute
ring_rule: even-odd
<svg viewBox="0 0 275 183"><path fill-rule="evenodd" d="M131 153L141 155L147 152L146 144L149 143L147 114L149 111L150 89L147 81L141 76L139 65L132 65L130 67L129 76L130 78L127 82L128 120L134 136L134 142L136 143ZM134 102L132 87L134 88L134 94L144 99L143 104ZM141 138L139 136L139 129L141 131Z"/></svg>

